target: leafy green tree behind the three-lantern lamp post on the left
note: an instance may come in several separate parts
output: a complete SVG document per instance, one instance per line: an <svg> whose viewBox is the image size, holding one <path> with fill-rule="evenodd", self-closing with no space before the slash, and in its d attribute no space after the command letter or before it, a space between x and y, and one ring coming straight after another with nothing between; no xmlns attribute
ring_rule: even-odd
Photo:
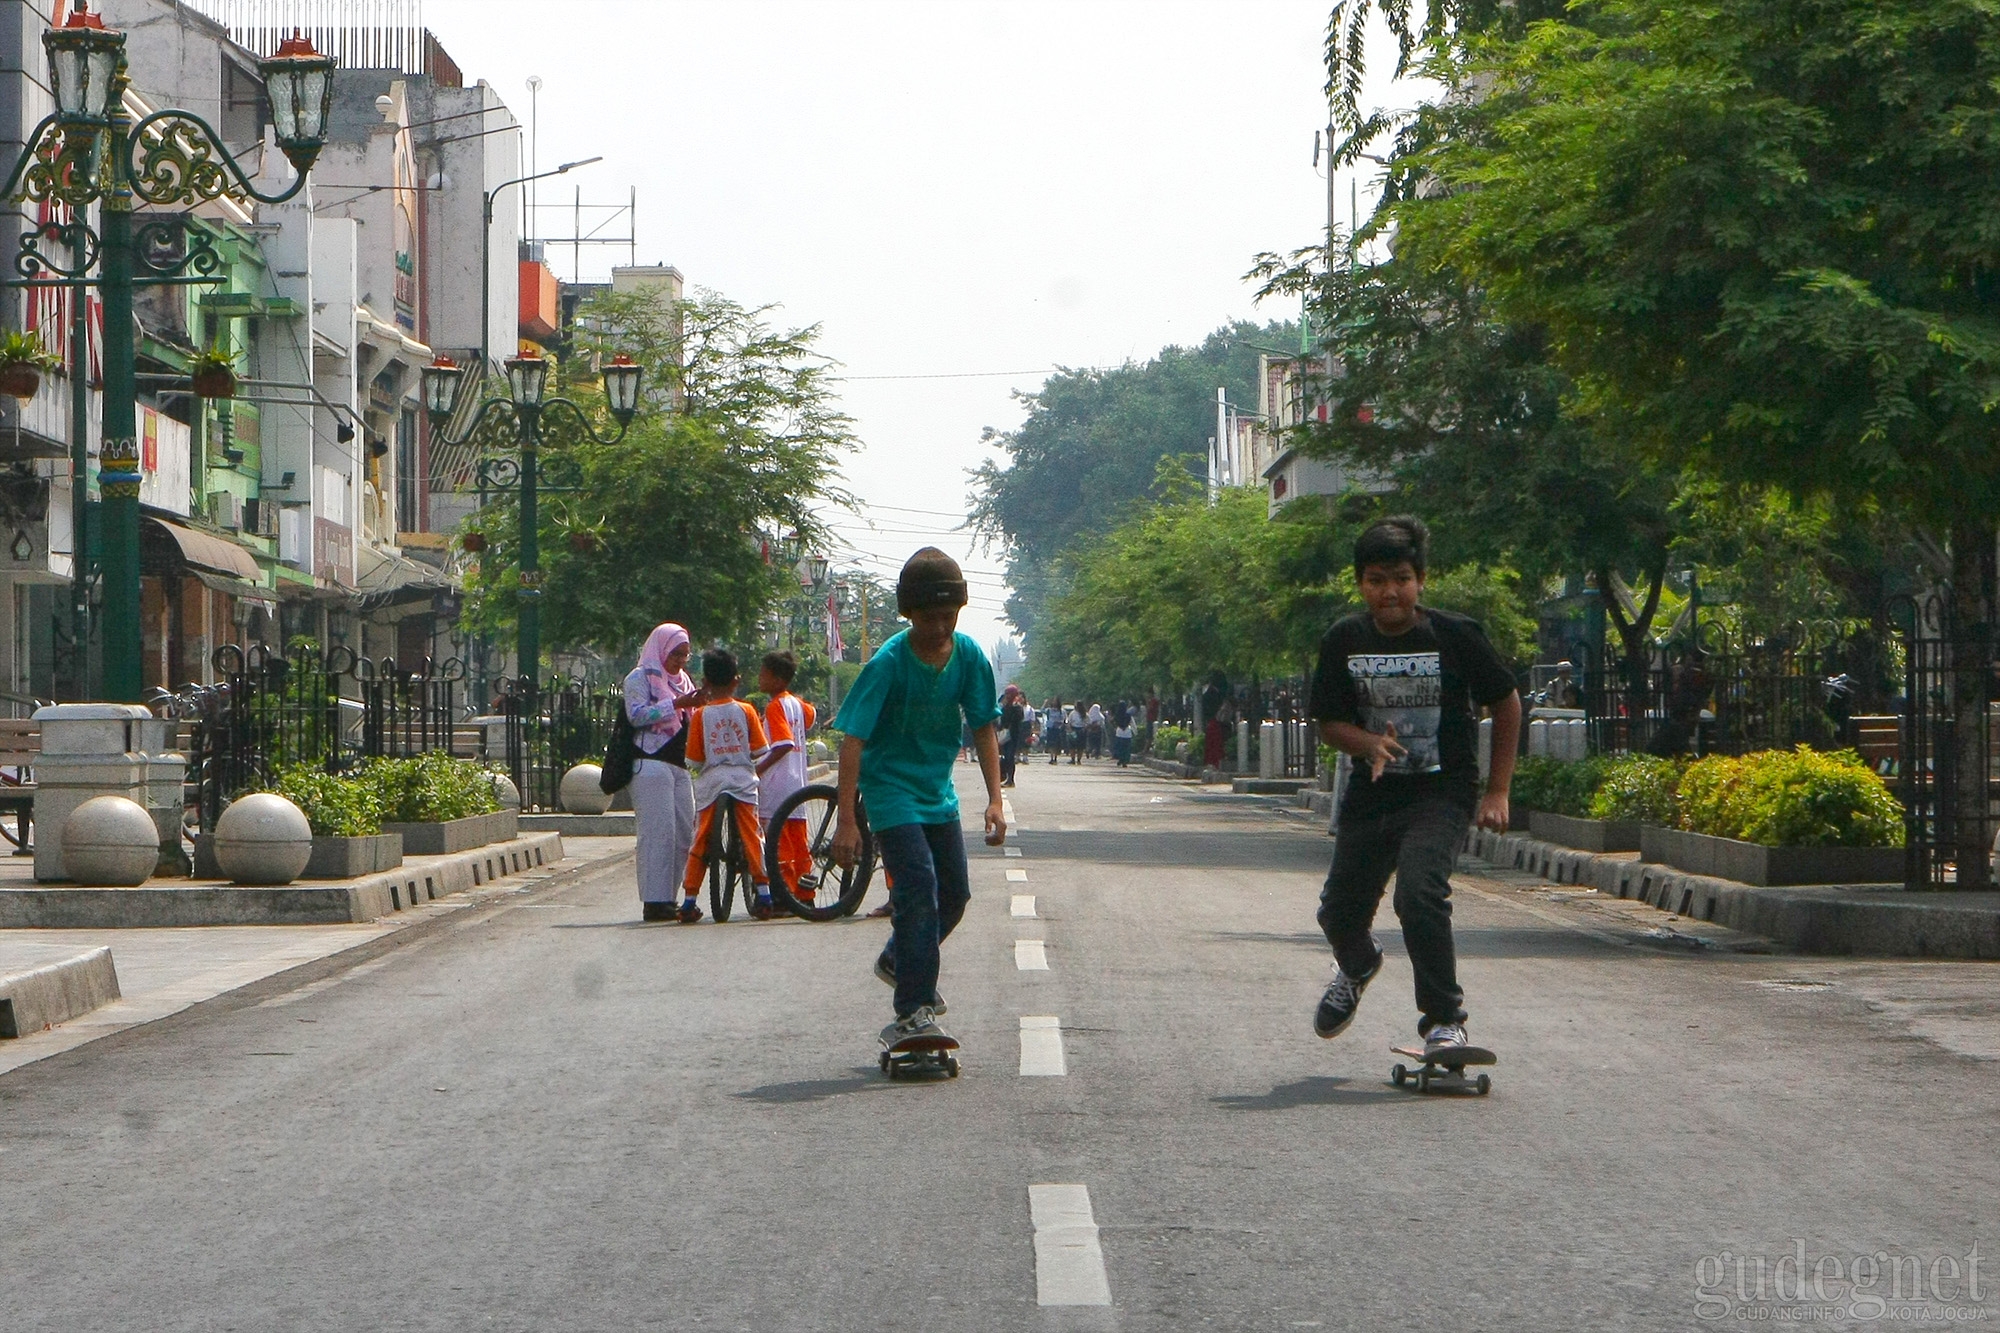
<svg viewBox="0 0 2000 1333"><path fill-rule="evenodd" d="M552 644L630 650L660 620L696 642L760 636L796 592L766 534L822 536L814 508L842 500L838 456L854 446L834 406L816 328L774 332L768 310L698 292L610 294L586 306L562 378L588 392L588 356L624 350L646 366L646 404L616 444L596 444L544 416L544 462L576 466L582 488L540 504L542 624ZM600 428L606 422L600 422ZM488 632L518 604L512 494L470 524L486 556L468 578L468 618Z"/></svg>

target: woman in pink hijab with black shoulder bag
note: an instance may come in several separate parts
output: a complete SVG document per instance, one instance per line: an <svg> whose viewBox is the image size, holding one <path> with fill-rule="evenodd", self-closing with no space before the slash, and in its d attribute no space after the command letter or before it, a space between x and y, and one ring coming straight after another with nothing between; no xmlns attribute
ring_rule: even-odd
<svg viewBox="0 0 2000 1333"><path fill-rule="evenodd" d="M660 624L626 677L632 721L632 813L638 823L638 897L646 921L672 921L694 849L694 783L688 781L688 709L702 701L688 675L688 630ZM696 919L700 909L696 909Z"/></svg>

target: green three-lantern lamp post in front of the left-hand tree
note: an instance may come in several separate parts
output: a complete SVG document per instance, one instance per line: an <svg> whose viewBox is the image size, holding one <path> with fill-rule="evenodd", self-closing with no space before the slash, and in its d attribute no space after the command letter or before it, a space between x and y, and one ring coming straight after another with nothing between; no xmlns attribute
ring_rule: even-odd
<svg viewBox="0 0 2000 1333"><path fill-rule="evenodd" d="M598 444L616 444L632 426L638 414L642 366L630 356L614 356L604 364L604 398L612 418L618 422L616 434L602 436L590 426L590 416L568 398L548 398L548 362L540 356L510 356L506 362L508 396L488 398L480 404L472 420L454 438L450 418L458 410L458 392L464 388L466 370L450 356L438 356L424 366L424 406L430 410L434 438L446 444L470 440L488 412L508 412L514 416L514 442L518 458L506 454L480 458L480 490L520 490L520 616L516 620L516 656L520 658L522 685L526 687L526 707L534 705L540 691L542 662L542 550L538 530L538 500L542 490L576 490L582 476L574 458L550 458L550 482L542 478L542 418L566 408L578 428Z"/></svg>

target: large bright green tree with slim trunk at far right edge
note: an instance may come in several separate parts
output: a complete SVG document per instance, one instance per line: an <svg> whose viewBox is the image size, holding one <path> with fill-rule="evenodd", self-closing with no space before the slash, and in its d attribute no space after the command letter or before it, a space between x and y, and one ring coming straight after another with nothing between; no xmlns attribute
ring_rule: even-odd
<svg viewBox="0 0 2000 1333"><path fill-rule="evenodd" d="M1944 538L1984 711L2000 512L2000 12L1602 0L1434 58L1398 258L1548 330L1570 410L1664 466L1874 496ZM1960 727L1960 791L1984 729ZM1962 885L1988 883L1960 803Z"/></svg>

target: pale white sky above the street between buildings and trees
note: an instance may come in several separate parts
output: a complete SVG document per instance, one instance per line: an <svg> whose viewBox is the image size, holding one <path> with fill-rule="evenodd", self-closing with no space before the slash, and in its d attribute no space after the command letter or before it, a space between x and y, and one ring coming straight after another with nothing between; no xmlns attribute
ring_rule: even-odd
<svg viewBox="0 0 2000 1333"><path fill-rule="evenodd" d="M894 578L958 556L960 628L1008 632L998 550L958 528L1018 390L1146 360L1260 308L1242 274L1326 226L1314 132L1330 0L426 0L464 70L536 122L542 236L638 190L638 262L818 324L864 450L842 548ZM530 100L528 80L540 78ZM1342 206L1348 186L1338 186ZM560 204L560 208L558 208ZM558 276L570 254L550 246ZM622 250L584 252L602 278Z"/></svg>

